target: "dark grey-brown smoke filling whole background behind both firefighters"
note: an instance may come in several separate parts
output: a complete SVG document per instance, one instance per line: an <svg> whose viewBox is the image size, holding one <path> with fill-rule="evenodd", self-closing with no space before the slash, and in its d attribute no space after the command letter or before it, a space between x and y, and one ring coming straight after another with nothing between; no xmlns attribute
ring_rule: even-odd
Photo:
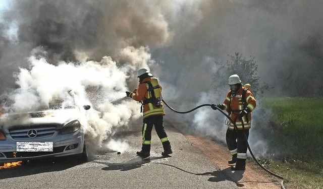
<svg viewBox="0 0 323 189"><path fill-rule="evenodd" d="M214 62L226 62L235 52L255 57L261 81L274 87L267 95L321 95L320 0L38 0L10 5L0 25L2 90L15 86L11 76L19 67L28 68L26 57L41 46L46 52L41 55L52 65L110 56L128 72L129 88L137 86L136 70L149 66L163 85L164 99L180 110L223 101L228 86L212 90ZM10 40L7 31L13 26L17 37ZM191 116L167 111L174 121L224 140L221 115L204 109Z"/></svg>

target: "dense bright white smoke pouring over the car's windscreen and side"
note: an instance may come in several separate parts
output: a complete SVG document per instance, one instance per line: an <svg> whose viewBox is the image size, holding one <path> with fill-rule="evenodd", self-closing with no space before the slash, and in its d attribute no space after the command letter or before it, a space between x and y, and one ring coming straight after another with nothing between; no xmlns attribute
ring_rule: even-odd
<svg viewBox="0 0 323 189"><path fill-rule="evenodd" d="M56 96L73 91L80 107L91 105L91 109L84 114L86 119L83 122L91 147L102 147L102 142L114 132L113 130L127 127L130 119L140 117L140 106L132 99L125 98L125 91L129 91L126 82L129 75L134 75L133 72L138 67L147 66L150 56L144 49L125 53L128 62L132 61L133 64L121 68L108 56L102 57L99 62L60 61L54 66L44 57L35 55L39 50L42 49L34 49L28 58L29 69L20 69L16 83L19 89L36 89L40 99L34 97L32 100L30 94L19 93L12 107L15 111L28 111L37 105L39 100L48 104ZM127 52L127 49L122 51L124 52ZM133 57L136 58L133 60Z"/></svg>

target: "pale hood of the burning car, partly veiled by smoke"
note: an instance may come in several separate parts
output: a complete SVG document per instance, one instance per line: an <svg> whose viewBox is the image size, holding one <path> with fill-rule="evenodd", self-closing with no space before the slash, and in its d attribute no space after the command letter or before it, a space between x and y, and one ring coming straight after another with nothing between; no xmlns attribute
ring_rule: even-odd
<svg viewBox="0 0 323 189"><path fill-rule="evenodd" d="M60 109L26 113L6 113L0 117L0 120L1 126L5 129L39 124L57 124L60 128L66 123L78 119L79 115L79 109Z"/></svg>

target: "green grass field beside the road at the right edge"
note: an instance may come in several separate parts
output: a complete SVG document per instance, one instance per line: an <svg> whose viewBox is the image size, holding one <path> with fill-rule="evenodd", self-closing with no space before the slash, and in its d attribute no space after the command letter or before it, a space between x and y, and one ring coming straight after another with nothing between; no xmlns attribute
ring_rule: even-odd
<svg viewBox="0 0 323 189"><path fill-rule="evenodd" d="M323 159L323 98L267 99L260 108L272 110L274 128L283 142L297 149L294 155Z"/></svg>

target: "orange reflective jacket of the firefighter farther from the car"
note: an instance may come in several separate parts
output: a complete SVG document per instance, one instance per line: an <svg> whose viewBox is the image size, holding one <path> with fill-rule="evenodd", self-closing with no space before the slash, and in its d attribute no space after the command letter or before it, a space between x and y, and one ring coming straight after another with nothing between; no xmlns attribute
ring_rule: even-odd
<svg viewBox="0 0 323 189"><path fill-rule="evenodd" d="M244 87L241 87L236 96L232 96L231 91L228 92L226 99L224 100L225 110L231 112L230 117L233 121L235 121L238 130L243 130L241 120L238 118L237 115L243 110L243 93L245 93L245 106L248 108L248 113L242 117L244 123L244 129L251 128L251 112L256 107L256 99L253 97L253 94L246 90ZM234 130L234 125L232 122L229 124L229 129Z"/></svg>

